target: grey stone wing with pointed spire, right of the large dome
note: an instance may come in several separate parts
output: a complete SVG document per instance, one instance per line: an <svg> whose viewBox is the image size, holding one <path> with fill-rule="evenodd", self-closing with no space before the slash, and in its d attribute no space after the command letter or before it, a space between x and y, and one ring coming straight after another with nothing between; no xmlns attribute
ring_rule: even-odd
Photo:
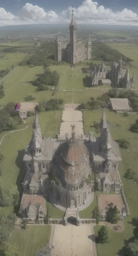
<svg viewBox="0 0 138 256"><path fill-rule="evenodd" d="M95 138L90 132L88 144L92 167L96 174L100 174L102 190L104 193L109 193L110 189L119 193L123 186L118 173L122 159L117 143L111 138L105 112L100 122L100 137Z"/></svg>

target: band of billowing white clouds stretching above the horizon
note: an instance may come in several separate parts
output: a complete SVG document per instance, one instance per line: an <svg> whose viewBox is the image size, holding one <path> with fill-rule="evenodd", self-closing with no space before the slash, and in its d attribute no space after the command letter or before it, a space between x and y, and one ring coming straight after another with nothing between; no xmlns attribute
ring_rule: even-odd
<svg viewBox="0 0 138 256"><path fill-rule="evenodd" d="M71 20L72 7L69 6L60 14L60 19L55 11L46 11L38 5L26 3L21 9L19 17L14 16L5 9L0 8L1 25L12 24L37 24L37 23L68 23ZM73 8L76 23L84 24L120 24L135 25L137 14L125 8L122 11L113 12L103 5L98 6L98 2L84 0L80 6Z"/></svg>

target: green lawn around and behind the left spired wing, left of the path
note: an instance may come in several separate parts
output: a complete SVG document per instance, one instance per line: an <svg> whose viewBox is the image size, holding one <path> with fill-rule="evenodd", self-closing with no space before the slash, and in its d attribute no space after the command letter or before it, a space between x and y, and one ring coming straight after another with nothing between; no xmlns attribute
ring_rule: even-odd
<svg viewBox="0 0 138 256"><path fill-rule="evenodd" d="M42 136L55 137L59 132L61 118L62 110L38 114ZM3 189L9 188L11 184L15 185L16 182L18 183L19 189L22 189L21 182L23 182L26 173L23 156L32 137L34 119L35 116L32 116L27 120L29 127L26 130L8 134L3 139L0 146L0 153L5 156L5 160L0 164L0 168L2 169L1 184Z"/></svg>

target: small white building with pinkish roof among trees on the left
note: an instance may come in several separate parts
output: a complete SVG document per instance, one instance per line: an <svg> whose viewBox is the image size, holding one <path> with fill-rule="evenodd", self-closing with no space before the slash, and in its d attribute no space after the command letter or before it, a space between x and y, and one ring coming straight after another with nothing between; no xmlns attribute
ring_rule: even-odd
<svg viewBox="0 0 138 256"><path fill-rule="evenodd" d="M19 107L15 111L19 111L19 117L21 119L27 118L27 112L31 111L35 113L35 107L38 104L38 102L21 102L19 103Z"/></svg>

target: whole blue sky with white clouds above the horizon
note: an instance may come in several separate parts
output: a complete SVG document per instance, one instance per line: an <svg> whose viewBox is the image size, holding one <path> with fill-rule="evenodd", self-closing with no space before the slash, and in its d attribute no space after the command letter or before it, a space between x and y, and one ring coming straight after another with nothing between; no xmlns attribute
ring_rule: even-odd
<svg viewBox="0 0 138 256"><path fill-rule="evenodd" d="M138 26L138 0L1 0L0 25L69 23Z"/></svg>

